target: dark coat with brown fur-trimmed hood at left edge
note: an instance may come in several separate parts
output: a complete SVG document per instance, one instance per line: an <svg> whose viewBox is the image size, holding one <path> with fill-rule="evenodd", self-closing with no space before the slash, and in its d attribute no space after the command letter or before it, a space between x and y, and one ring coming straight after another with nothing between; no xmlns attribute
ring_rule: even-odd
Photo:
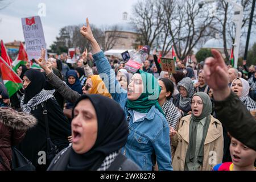
<svg viewBox="0 0 256 182"><path fill-rule="evenodd" d="M19 113L8 108L0 109L0 155L5 163L0 163L0 171L11 170L11 146L16 146L26 134L26 131L36 125L32 115Z"/></svg>

